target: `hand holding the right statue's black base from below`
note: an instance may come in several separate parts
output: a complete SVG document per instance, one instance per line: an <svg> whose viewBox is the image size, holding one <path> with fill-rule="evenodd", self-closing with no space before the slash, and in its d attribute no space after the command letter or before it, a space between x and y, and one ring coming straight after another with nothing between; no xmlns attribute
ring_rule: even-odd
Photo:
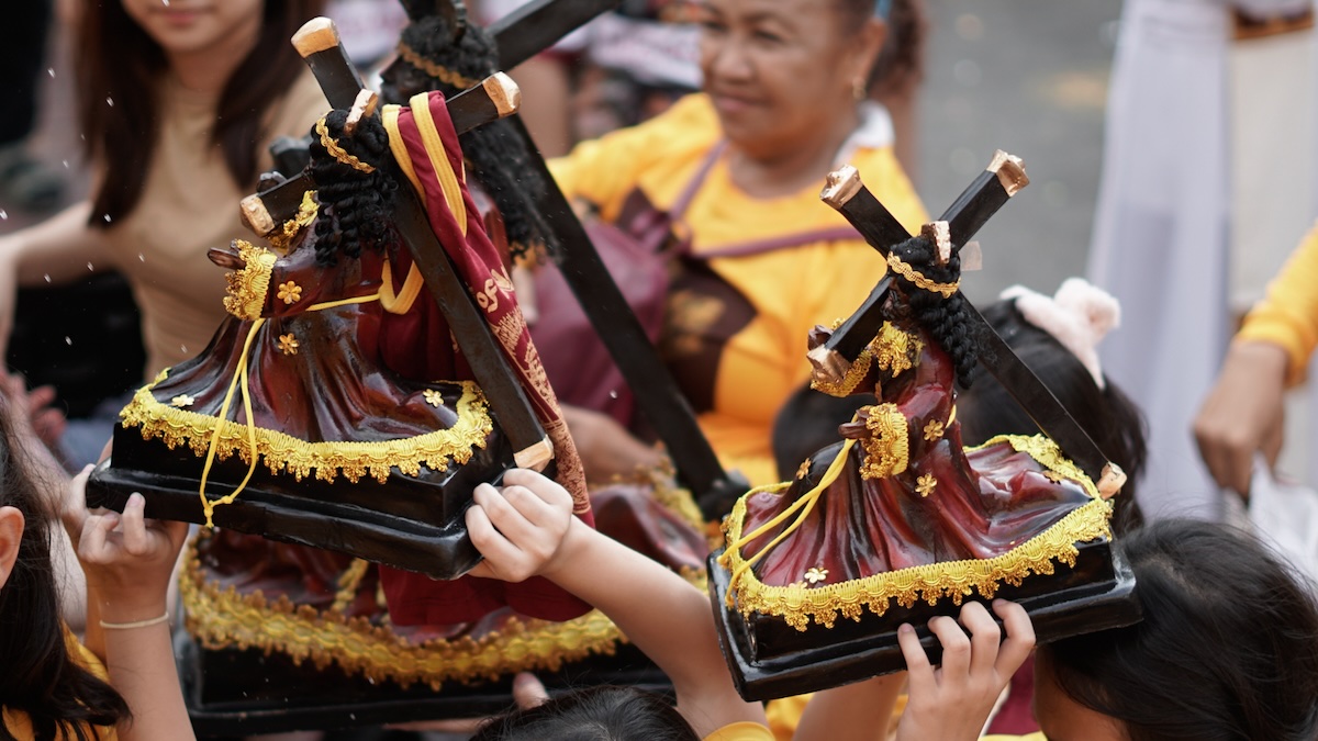
<svg viewBox="0 0 1318 741"><path fill-rule="evenodd" d="M1006 641L979 603L966 603L961 608L961 625L950 617L929 621L929 629L942 643L938 668L929 665L913 628L903 625L898 630L909 683L898 741L979 738L998 695L1035 647L1035 626L1025 608L995 600L992 609L1007 629Z"/></svg>

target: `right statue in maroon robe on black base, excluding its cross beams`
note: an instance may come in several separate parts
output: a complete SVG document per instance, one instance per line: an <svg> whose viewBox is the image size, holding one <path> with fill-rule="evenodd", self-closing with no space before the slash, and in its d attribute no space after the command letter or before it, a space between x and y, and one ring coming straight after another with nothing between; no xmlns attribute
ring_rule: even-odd
<svg viewBox="0 0 1318 741"><path fill-rule="evenodd" d="M832 178L836 206L842 177ZM863 189L858 179L847 187ZM953 233L965 228L956 210L949 218ZM1102 467L1098 484L1102 476L1044 435L962 444L954 384L970 376L978 335L991 330L960 294L961 245L948 223L905 236L876 245L891 277L865 316L844 324L876 324L870 341L834 361L840 372L820 364L813 384L832 396L873 393L878 403L842 425L842 440L803 461L792 481L743 496L724 523L726 547L710 556L721 639L749 700L903 668L903 622L936 654L925 624L966 599L1020 601L1041 641L1139 620L1133 579L1108 547L1107 498L1120 473ZM817 327L812 351L834 330ZM1004 359L981 361L994 370Z"/></svg>

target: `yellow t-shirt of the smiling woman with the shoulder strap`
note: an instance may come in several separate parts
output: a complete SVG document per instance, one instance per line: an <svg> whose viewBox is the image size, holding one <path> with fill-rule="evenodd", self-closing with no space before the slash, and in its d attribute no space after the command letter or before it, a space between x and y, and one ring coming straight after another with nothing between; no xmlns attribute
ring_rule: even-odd
<svg viewBox="0 0 1318 741"><path fill-rule="evenodd" d="M618 216L634 189L670 210L722 138L705 95L689 95L666 113L630 129L583 142L551 163L569 198L589 200L605 220ZM861 148L850 160L870 190L912 232L927 220L891 148ZM757 199L714 163L681 222L692 253L751 240L846 227L818 199L822 179L801 191ZM739 291L755 315L722 348L712 407L699 415L724 465L751 484L778 481L771 431L787 397L809 378L807 332L847 316L883 277L879 254L861 239L817 241L745 257L716 257L709 268Z"/></svg>

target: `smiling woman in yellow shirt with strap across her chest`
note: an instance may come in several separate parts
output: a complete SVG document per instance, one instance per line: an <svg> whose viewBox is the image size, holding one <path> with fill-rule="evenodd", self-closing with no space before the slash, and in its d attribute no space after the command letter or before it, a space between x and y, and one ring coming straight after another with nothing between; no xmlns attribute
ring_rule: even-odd
<svg viewBox="0 0 1318 741"><path fill-rule="evenodd" d="M634 191L680 211L691 237L670 286L660 352L729 468L775 479L770 431L809 377L803 339L846 316L883 261L818 200L824 177L855 165L905 224L924 208L892 154L891 121L865 102L887 26L874 0L709 0L704 92L552 163L569 198L614 220ZM610 418L568 413L592 479L656 454Z"/></svg>

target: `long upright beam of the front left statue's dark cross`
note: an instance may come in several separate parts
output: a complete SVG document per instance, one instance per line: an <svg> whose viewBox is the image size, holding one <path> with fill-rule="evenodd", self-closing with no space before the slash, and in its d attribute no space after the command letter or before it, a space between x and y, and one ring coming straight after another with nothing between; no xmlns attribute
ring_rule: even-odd
<svg viewBox="0 0 1318 741"><path fill-rule="evenodd" d="M302 26L293 40L298 53L308 61L331 104L336 108L353 105L364 88L352 62L343 53L333 22L328 18L314 18ZM353 111L352 115L360 112ZM369 115L376 113L372 111ZM431 231L426 208L410 186L398 189L394 216L398 232L426 280L426 287L448 319L453 339L471 364L476 382L480 384L494 417L513 443L517 465L543 469L554 459L554 446L535 417L521 384L507 367L503 351L476 301L459 278L452 260L439 244L435 232Z"/></svg>

